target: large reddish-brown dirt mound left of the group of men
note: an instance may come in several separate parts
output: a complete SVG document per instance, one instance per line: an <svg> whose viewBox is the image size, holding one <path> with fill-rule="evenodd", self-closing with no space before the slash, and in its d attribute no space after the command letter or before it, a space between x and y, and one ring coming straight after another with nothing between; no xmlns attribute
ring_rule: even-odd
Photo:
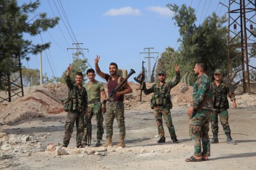
<svg viewBox="0 0 256 170"><path fill-rule="evenodd" d="M11 125L28 118L62 112L64 109L61 101L47 88L41 88L11 103L2 104L0 120L2 124Z"/></svg>

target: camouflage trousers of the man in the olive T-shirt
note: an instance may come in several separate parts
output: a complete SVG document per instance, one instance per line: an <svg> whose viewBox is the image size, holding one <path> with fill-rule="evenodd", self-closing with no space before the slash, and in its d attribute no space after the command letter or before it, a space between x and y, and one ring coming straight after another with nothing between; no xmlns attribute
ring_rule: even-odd
<svg viewBox="0 0 256 170"><path fill-rule="evenodd" d="M87 126L88 120L92 120L93 115L96 117L96 124L97 124L97 140L102 140L102 135L104 134L103 129L103 114L101 109L101 103L97 102L92 104L92 107L88 107L88 117L84 116L84 135L82 137L82 142L86 143L87 141Z"/></svg>

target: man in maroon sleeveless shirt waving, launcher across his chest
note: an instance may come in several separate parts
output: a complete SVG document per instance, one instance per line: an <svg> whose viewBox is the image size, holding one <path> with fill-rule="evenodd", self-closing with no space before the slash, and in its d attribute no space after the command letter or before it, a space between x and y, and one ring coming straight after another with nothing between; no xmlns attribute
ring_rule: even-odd
<svg viewBox="0 0 256 170"><path fill-rule="evenodd" d="M123 78L117 75L117 64L112 62L109 65L109 74L105 74L100 70L98 62L100 61L100 56L94 59L95 69L98 75L104 78L108 82L108 94L122 82ZM126 147L125 145L125 108L123 105L123 99L125 94L130 94L133 92L128 83L126 83L123 88L118 91L112 99L108 101L106 107L106 143L105 147L113 146L112 135L113 135L113 122L114 118L117 119L117 124L119 128L119 143L117 146Z"/></svg>

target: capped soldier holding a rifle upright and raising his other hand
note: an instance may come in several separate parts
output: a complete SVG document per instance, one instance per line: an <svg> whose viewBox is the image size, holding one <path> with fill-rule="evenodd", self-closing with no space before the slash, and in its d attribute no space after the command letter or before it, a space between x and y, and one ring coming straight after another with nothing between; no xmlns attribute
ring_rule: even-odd
<svg viewBox="0 0 256 170"><path fill-rule="evenodd" d="M166 137L164 137L163 118L166 122L172 141L174 143L179 143L175 134L174 125L172 125L172 117L170 111L170 109L172 109L172 101L170 95L171 88L175 87L180 82L180 71L177 65L175 66L175 73L176 78L174 82L165 82L166 73L164 71L160 71L158 73L158 83L153 84L152 87L148 89L146 88L145 82L143 86L145 95L154 92L150 105L151 108L154 109L156 125L158 126L158 134L160 136L158 143L166 142Z"/></svg>

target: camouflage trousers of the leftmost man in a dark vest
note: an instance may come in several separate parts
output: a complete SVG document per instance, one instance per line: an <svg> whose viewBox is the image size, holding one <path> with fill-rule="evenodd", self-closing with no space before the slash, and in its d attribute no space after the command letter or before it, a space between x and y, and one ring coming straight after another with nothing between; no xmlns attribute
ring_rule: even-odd
<svg viewBox="0 0 256 170"><path fill-rule="evenodd" d="M65 122L65 135L63 138L63 146L68 146L73 128L76 122L76 146L81 145L82 135L84 134L84 113L68 111Z"/></svg>

